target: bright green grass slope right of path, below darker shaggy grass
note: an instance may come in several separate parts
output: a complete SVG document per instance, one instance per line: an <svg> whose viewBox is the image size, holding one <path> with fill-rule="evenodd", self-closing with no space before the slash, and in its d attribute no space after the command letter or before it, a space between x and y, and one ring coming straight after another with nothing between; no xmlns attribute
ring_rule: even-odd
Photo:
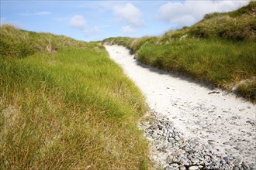
<svg viewBox="0 0 256 170"><path fill-rule="evenodd" d="M147 43L137 55L150 66L178 71L221 87L256 74L256 56L252 55L255 48L254 42L183 39L158 46Z"/></svg>

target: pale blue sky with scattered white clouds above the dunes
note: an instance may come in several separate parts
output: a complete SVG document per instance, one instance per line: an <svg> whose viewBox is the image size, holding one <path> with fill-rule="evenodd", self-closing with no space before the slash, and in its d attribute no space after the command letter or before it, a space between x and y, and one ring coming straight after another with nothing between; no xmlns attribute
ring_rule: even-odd
<svg viewBox="0 0 256 170"><path fill-rule="evenodd" d="M1 0L1 24L93 41L112 36L160 36L192 26L206 13L229 12L249 0L12 1Z"/></svg>

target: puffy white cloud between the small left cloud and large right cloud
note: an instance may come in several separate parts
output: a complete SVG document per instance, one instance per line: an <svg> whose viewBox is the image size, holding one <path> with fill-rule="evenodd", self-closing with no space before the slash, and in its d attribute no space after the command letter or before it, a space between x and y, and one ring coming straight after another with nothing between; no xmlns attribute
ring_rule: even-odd
<svg viewBox="0 0 256 170"><path fill-rule="evenodd" d="M142 12L133 4L128 3L125 6L115 5L113 11L120 22L125 22L135 27L144 26L144 22L141 19Z"/></svg>

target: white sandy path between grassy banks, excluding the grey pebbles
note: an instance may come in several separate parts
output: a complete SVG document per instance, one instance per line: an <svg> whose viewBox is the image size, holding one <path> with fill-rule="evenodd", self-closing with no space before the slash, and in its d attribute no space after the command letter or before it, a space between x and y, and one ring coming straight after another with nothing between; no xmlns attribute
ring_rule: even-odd
<svg viewBox="0 0 256 170"><path fill-rule="evenodd" d="M225 156L255 163L256 107L191 80L144 66L123 46L106 46L147 98L151 110L168 116L185 138L213 145ZM217 91L218 93L210 93ZM209 141L210 140L210 141Z"/></svg>

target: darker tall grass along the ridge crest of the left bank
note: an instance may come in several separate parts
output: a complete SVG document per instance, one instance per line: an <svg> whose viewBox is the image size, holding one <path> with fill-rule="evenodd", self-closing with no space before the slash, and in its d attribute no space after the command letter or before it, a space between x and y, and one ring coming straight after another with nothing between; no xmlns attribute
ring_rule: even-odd
<svg viewBox="0 0 256 170"><path fill-rule="evenodd" d="M85 46L86 44L86 42L75 41L66 36L16 29L12 25L2 25L0 36L0 55L5 57L24 57L36 52L55 53L66 47Z"/></svg>

